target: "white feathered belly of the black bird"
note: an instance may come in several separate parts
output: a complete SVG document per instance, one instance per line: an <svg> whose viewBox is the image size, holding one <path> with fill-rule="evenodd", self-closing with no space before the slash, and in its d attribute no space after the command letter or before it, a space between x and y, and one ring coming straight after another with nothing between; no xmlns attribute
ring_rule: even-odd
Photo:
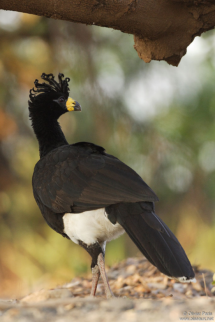
<svg viewBox="0 0 215 322"><path fill-rule="evenodd" d="M79 240L87 245L95 242L103 244L124 233L119 223L114 225L107 219L104 208L83 213L65 213L63 221L64 232L76 244Z"/></svg>

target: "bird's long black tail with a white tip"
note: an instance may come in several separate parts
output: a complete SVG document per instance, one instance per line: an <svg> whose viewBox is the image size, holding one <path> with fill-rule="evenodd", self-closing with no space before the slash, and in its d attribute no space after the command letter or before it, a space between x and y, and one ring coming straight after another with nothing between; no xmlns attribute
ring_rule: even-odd
<svg viewBox="0 0 215 322"><path fill-rule="evenodd" d="M185 251L167 225L154 213L153 203L123 203L115 205L112 212L110 210L108 218L111 220L114 212L116 221L142 254L163 274L184 281L194 279L195 274Z"/></svg>

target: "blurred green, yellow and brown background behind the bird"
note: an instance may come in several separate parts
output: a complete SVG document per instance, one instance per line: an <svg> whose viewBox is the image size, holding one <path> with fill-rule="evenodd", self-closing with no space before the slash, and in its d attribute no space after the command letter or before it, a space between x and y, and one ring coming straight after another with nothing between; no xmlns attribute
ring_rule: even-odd
<svg viewBox="0 0 215 322"><path fill-rule="evenodd" d="M179 66L146 64L133 36L0 11L0 298L20 298L90 273L91 259L44 222L31 178L39 152L28 95L42 72L71 78L82 113L60 119L70 143L91 141L135 169L191 263L215 270L215 32ZM106 263L141 256L123 235Z"/></svg>

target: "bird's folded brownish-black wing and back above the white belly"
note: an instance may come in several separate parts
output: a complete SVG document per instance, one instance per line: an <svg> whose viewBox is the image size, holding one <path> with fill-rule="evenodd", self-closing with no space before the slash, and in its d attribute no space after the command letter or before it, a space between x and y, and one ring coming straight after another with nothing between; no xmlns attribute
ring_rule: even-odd
<svg viewBox="0 0 215 322"><path fill-rule="evenodd" d="M82 212L121 202L158 201L142 178L92 143L59 147L40 159L34 197L55 213Z"/></svg>

